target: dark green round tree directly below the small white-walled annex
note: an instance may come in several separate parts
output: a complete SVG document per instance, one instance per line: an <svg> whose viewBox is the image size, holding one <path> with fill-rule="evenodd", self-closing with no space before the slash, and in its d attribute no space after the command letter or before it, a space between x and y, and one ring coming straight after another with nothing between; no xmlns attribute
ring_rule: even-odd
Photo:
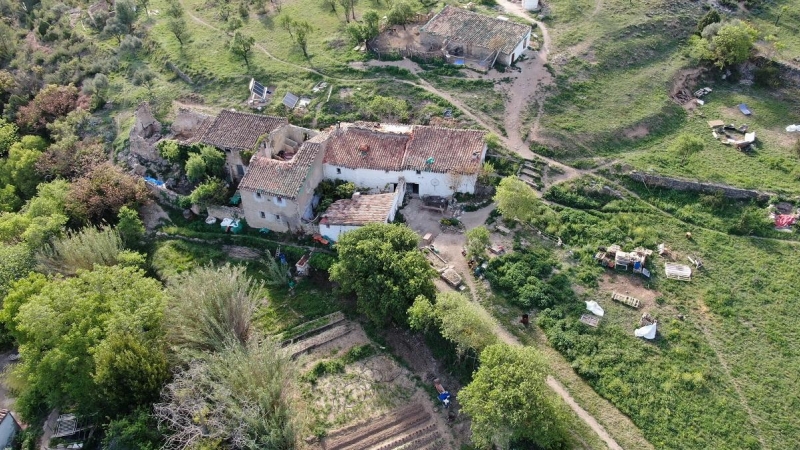
<svg viewBox="0 0 800 450"><path fill-rule="evenodd" d="M341 236L331 280L353 293L376 324L406 322L418 295L433 297L436 272L417 249L419 237L402 225L372 224Z"/></svg>

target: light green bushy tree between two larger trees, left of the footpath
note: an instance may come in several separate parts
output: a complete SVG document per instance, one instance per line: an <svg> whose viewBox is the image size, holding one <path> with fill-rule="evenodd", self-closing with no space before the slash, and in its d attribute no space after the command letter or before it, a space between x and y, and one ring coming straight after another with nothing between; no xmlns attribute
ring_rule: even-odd
<svg viewBox="0 0 800 450"><path fill-rule="evenodd" d="M418 296L408 310L412 328L424 330L431 325L438 328L443 338L456 344L456 351L464 355L472 350L480 353L497 342L494 319L479 305L456 292L441 293L436 303Z"/></svg>

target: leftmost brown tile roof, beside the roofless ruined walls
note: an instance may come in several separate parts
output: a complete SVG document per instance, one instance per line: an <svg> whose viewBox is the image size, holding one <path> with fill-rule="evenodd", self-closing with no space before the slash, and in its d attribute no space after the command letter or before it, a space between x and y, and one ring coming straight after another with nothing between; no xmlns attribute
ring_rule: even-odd
<svg viewBox="0 0 800 450"><path fill-rule="evenodd" d="M288 123L283 117L223 110L200 141L219 148L249 150L259 137Z"/></svg>

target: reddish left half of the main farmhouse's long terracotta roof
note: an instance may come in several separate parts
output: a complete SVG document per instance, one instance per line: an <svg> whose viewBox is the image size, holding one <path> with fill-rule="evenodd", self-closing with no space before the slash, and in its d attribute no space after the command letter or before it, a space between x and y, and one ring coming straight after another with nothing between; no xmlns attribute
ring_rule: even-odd
<svg viewBox="0 0 800 450"><path fill-rule="evenodd" d="M392 134L342 124L325 150L325 164L350 169L400 170L408 134Z"/></svg>

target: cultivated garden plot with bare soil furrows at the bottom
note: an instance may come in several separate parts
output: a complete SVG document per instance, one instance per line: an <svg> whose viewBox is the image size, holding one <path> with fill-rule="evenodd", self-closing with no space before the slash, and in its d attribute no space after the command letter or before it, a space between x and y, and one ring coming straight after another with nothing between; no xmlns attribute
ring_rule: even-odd
<svg viewBox="0 0 800 450"><path fill-rule="evenodd" d="M299 356L315 429L339 428L314 448L451 448L445 415L434 410L411 372L376 353L360 325L339 318L309 325L288 347ZM314 334L317 328L322 331Z"/></svg>

